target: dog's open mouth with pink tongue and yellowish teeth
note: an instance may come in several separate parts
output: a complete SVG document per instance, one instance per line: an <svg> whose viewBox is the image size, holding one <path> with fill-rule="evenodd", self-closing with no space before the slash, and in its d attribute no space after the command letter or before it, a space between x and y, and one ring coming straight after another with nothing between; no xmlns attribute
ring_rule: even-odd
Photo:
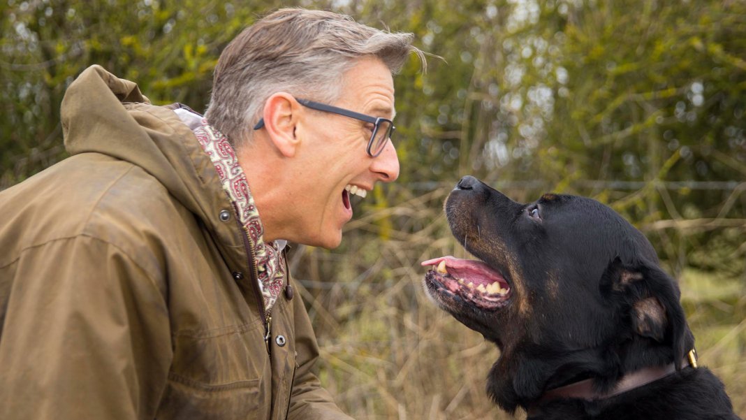
<svg viewBox="0 0 746 420"><path fill-rule="evenodd" d="M424 261L422 266L435 267L427 272L426 280L439 292L459 296L477 307L494 310L503 307L510 296L504 276L481 261L449 256Z"/></svg>

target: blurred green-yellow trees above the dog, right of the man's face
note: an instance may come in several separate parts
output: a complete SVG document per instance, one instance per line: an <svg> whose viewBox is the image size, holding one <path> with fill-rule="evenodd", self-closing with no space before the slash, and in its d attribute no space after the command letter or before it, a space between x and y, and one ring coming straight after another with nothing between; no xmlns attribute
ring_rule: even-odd
<svg viewBox="0 0 746 420"><path fill-rule="evenodd" d="M527 200L595 196L649 231L675 272L686 260L744 272L743 251L735 264L732 254L746 213L744 2L348 7L445 59L397 81L405 184L471 173Z"/></svg>

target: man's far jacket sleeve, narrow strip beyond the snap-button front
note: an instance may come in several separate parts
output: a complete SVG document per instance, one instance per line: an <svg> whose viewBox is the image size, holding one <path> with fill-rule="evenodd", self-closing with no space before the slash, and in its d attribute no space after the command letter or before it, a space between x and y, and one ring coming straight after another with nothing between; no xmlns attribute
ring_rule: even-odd
<svg viewBox="0 0 746 420"><path fill-rule="evenodd" d="M300 293L296 293L299 295ZM324 389L319 378L313 374L313 365L319 358L319 345L313 333L308 313L300 296L294 299L295 307L295 378L290 395L289 420L352 420L342 413L334 403L333 397Z"/></svg>

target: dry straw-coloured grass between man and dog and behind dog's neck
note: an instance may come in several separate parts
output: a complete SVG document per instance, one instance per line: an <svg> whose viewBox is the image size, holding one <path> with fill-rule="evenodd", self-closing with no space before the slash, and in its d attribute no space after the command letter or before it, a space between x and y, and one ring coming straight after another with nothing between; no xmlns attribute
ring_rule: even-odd
<svg viewBox="0 0 746 420"><path fill-rule="evenodd" d="M525 418L501 412L486 396L495 346L437 309L422 289L421 260L464 254L441 215L448 190L366 209L351 223L357 231L345 235L345 249L300 247L292 255L319 336L322 383L356 419ZM385 242L377 239L382 231ZM721 377L746 418L744 286L692 270L681 282L700 362Z"/></svg>

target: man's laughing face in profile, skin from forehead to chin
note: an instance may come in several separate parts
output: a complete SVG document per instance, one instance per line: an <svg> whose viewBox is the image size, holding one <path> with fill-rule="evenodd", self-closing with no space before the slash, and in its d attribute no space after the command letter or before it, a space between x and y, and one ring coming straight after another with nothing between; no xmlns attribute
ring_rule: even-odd
<svg viewBox="0 0 746 420"><path fill-rule="evenodd" d="M343 78L342 94L332 105L369 116L393 119L394 84L391 72L378 59L365 58ZM376 181L398 178L399 161L392 142L371 157L366 152L373 125L347 116L304 109L298 125L304 146L296 176L295 242L336 248L342 227L352 218L347 189L370 192ZM296 166L298 167L298 166ZM345 189L345 187L347 187ZM290 239L290 238L288 238Z"/></svg>

